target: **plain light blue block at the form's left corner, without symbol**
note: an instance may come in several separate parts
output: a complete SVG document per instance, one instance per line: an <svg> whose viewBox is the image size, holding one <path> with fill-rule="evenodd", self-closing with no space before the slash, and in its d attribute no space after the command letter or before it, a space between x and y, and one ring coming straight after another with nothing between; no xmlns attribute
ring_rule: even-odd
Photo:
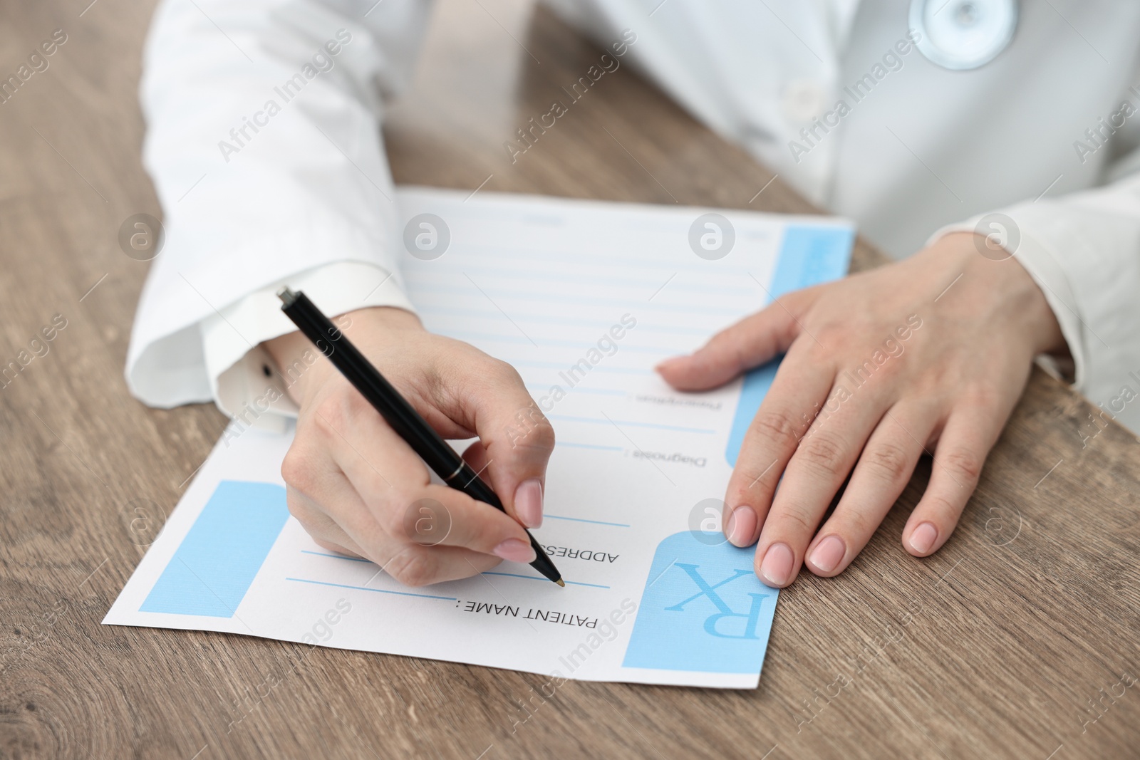
<svg viewBox="0 0 1140 760"><path fill-rule="evenodd" d="M233 618L287 518L280 485L220 482L139 611Z"/></svg>

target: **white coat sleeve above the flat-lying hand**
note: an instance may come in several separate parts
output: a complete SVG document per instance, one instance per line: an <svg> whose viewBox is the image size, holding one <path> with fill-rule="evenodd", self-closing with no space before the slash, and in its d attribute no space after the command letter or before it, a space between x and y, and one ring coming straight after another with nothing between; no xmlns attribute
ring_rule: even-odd
<svg viewBox="0 0 1140 760"><path fill-rule="evenodd" d="M1140 430L1140 174L978 215L930 240L967 230L994 235L1041 287L1073 356L1076 390Z"/></svg>

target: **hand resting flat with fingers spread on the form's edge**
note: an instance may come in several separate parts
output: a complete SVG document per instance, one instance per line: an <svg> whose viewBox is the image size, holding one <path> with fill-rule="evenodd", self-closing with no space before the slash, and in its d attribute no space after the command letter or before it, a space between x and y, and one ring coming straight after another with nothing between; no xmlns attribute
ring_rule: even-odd
<svg viewBox="0 0 1140 760"><path fill-rule="evenodd" d="M803 564L842 572L923 452L934 467L903 546L925 557L950 538L1034 357L1066 351L1028 272L983 256L985 245L952 234L905 261L790 293L658 367L674 387L702 391L785 354L725 496L725 534L757 544L765 583L788 586Z"/></svg>

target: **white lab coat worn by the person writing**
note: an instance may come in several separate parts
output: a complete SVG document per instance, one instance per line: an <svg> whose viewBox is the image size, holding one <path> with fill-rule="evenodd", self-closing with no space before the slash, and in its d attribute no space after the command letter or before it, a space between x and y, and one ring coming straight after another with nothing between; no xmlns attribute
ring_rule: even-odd
<svg viewBox="0 0 1140 760"><path fill-rule="evenodd" d="M1140 431L1140 3L1023 0L996 58L950 71L907 44L905 0L549 2L600 43L630 30L624 63L894 256L1007 214L1077 389ZM286 280L334 313L410 308L378 125L430 10L161 2L140 89L166 243L127 366L142 401L290 414L247 411L272 384L255 346L293 329Z"/></svg>

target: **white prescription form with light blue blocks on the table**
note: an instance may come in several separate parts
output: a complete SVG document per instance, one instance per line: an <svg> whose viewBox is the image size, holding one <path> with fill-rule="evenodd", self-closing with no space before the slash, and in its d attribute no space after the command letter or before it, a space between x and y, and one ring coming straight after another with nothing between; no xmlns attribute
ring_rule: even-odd
<svg viewBox="0 0 1140 760"><path fill-rule="evenodd" d="M402 275L426 327L512 363L554 426L534 533L567 587L503 563L407 588L326 551L285 507L292 432L231 430L104 622L755 687L777 591L757 580L751 549L724 540L719 509L775 368L701 394L674 392L652 368L781 293L840 277L850 226L418 188L397 202Z"/></svg>

